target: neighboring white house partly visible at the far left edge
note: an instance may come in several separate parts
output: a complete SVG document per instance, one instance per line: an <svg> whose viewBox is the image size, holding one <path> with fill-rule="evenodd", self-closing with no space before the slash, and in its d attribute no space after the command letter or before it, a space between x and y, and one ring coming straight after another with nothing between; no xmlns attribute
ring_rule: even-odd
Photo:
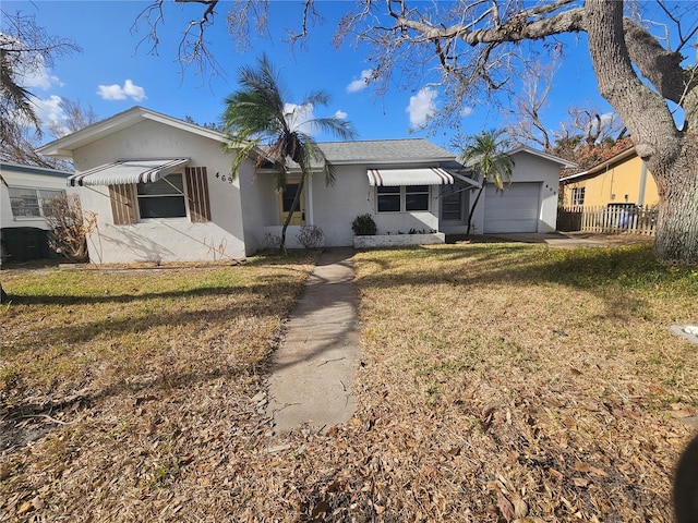
<svg viewBox="0 0 698 523"><path fill-rule="evenodd" d="M41 167L0 162L0 259L50 258L47 203L65 194L73 174Z"/></svg>

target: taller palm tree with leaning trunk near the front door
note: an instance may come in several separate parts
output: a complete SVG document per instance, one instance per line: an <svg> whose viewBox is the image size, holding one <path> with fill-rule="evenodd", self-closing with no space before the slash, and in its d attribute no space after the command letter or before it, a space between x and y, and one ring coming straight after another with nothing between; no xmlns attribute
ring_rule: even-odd
<svg viewBox="0 0 698 523"><path fill-rule="evenodd" d="M301 171L290 212L281 229L282 250L286 230L293 212L298 210L305 180L312 172L313 160L323 163L326 185L332 185L335 181L333 165L327 161L308 131L329 132L341 139L351 139L356 133L348 121L336 117L299 122L299 111L327 106L329 96L323 90L316 90L308 95L300 106L288 104L284 99L286 93L279 84L278 75L266 54L257 59L256 66L241 68L238 83L241 88L226 98L222 115L224 132L229 136L228 147L237 149L231 166L232 175L236 175L242 161L257 147L262 147L264 154L256 156L255 168L272 161L277 169L278 191L286 187L291 162L298 165Z"/></svg>

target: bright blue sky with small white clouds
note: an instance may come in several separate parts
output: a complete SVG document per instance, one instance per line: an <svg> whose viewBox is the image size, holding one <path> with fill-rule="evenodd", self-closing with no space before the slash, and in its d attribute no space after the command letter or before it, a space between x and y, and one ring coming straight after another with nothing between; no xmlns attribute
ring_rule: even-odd
<svg viewBox="0 0 698 523"><path fill-rule="evenodd" d="M224 73L213 76L202 76L194 66L182 74L176 60L181 32L201 14L202 5L173 2L166 5L157 56L147 52L149 42L139 46L148 32L147 24L141 21L137 32L132 31L136 16L146 5L148 2L135 0L3 0L5 12L33 14L49 34L70 38L82 48L81 52L57 60L51 70L32 78L28 87L39 99L39 114L45 120L60 121L58 100L64 97L79 100L84 107L91 105L100 119L137 105L176 118L190 115L197 123L216 122L224 109L224 98L237 87L238 69L253 63L264 51L280 71L290 101L300 102L312 89L326 90L333 98L332 104L314 108L314 114L347 118L359 139L424 136L448 147L453 129L414 131L430 111L438 110L444 104L443 93L430 86L429 78L409 89L395 86L377 96L362 82L362 75L371 69L365 49L333 47L332 37L339 16L346 11L345 2L318 2L325 23L312 27L305 46L297 45L291 50L285 41L285 28L288 24L298 25L300 4L273 1L272 36L253 38L246 51L238 50L228 34L226 11L231 3L221 2L215 24L206 34L209 49ZM551 127L558 126L571 104L590 102L602 111L610 110L598 96L583 35L566 41L565 60L555 76L545 110ZM474 134L482 129L501 126L503 121L497 110L483 100L459 123L462 133ZM320 135L317 139L332 138Z"/></svg>

